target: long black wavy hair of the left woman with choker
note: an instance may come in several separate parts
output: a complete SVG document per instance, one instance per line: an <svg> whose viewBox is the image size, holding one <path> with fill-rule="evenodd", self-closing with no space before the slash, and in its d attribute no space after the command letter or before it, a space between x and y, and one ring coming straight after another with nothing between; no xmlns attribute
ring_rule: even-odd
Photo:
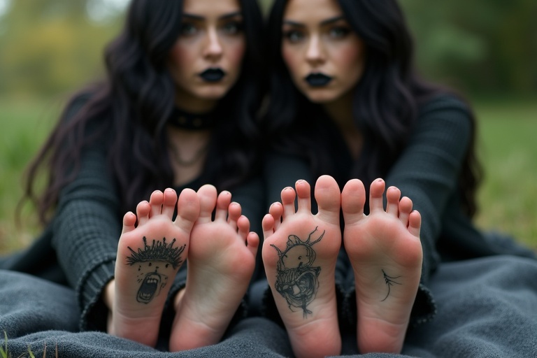
<svg viewBox="0 0 537 358"><path fill-rule="evenodd" d="M257 1L239 2L246 38L241 76L215 109L218 117L203 169L203 177L219 189L237 185L259 165L263 21ZM76 177L83 148L103 136L111 136L108 164L123 212L134 210L153 190L173 187L164 129L176 105L176 87L166 60L180 34L182 8L182 0L131 1L124 29L105 50L105 80L73 96L27 171L23 199L34 202L43 224L50 220L59 191ZM80 101L84 104L73 115L72 107ZM41 171L47 182L39 191Z"/></svg>

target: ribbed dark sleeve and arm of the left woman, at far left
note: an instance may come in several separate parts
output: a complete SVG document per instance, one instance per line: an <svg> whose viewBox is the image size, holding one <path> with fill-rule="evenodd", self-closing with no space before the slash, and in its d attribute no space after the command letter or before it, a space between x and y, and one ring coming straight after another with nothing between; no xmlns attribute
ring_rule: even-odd
<svg viewBox="0 0 537 358"><path fill-rule="evenodd" d="M76 289L81 329L106 327L101 293L113 278L121 234L120 198L103 142L83 150L80 171L60 192L53 221L52 245L69 285Z"/></svg>

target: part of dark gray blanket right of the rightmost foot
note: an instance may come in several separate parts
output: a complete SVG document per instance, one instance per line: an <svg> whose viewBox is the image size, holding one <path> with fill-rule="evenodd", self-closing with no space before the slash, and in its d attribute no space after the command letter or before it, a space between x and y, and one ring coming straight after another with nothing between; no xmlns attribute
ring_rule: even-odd
<svg viewBox="0 0 537 358"><path fill-rule="evenodd" d="M410 331L416 357L537 357L537 262L487 257L441 265L438 315Z"/></svg>

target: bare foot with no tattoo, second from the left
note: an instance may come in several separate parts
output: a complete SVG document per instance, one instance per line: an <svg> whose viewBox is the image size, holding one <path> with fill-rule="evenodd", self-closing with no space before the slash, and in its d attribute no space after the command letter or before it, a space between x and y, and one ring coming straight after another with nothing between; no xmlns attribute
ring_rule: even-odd
<svg viewBox="0 0 537 358"><path fill-rule="evenodd" d="M185 289L176 298L170 350L218 343L248 289L259 236L231 194L203 185L201 210L192 229ZM212 214L215 212L215 219Z"/></svg>

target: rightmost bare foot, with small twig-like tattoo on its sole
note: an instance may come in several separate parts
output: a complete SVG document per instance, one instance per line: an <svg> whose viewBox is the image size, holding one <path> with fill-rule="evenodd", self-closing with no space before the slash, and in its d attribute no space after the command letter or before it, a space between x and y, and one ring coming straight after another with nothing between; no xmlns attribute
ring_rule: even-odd
<svg viewBox="0 0 537 358"><path fill-rule="evenodd" d="M410 310L420 284L421 216L412 201L399 198L396 187L371 183L369 215L364 215L366 194L360 180L347 182L341 194L345 218L343 241L355 273L357 338L361 353L401 352Z"/></svg>

